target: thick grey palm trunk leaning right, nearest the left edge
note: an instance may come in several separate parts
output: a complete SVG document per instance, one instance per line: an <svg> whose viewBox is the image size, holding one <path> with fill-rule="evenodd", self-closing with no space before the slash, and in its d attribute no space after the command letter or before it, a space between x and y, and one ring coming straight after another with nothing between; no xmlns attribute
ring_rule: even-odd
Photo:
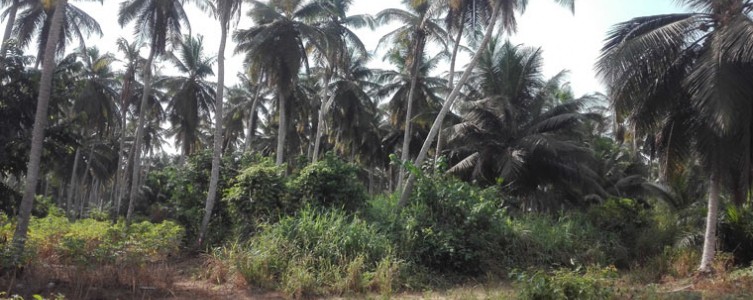
<svg viewBox="0 0 753 300"><path fill-rule="evenodd" d="M42 159L42 145L44 142L44 129L47 127L47 109L52 94L52 76L55 71L55 47L60 39L60 31L63 29L63 15L68 0L59 0L52 16L49 37L45 45L44 62L42 63L42 77L39 81L39 98L37 110L34 115L34 128L31 135L31 151L29 152L29 164L26 171L26 186L24 197L18 209L18 225L13 233L13 262L18 263L24 251L26 236L29 231L31 209L34 206L37 180L39 179L39 166Z"/></svg>

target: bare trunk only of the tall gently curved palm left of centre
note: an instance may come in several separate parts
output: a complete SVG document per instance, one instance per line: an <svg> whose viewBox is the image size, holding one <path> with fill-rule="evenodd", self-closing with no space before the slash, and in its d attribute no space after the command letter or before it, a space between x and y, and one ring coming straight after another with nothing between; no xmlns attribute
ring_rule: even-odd
<svg viewBox="0 0 753 300"><path fill-rule="evenodd" d="M223 19L223 18L220 18ZM225 93L225 45L227 43L227 27L228 23L220 21L221 36L220 36L220 50L217 55L217 95L215 104L215 125L214 125L214 153L212 155L212 171L211 178L209 179L209 192L207 192L207 202L204 206L204 218L201 220L201 228L199 229L198 245L204 242L204 236L206 235L207 228L209 227L209 221L212 218L212 209L217 198L217 183L220 180L220 158L222 156L222 97Z"/></svg>

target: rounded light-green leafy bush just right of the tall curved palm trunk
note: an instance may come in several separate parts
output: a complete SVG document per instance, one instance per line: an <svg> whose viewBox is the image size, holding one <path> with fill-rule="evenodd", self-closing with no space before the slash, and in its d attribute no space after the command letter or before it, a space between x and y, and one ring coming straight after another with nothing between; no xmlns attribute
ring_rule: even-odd
<svg viewBox="0 0 753 300"><path fill-rule="evenodd" d="M271 159L262 159L241 171L225 190L223 202L236 234L245 236L263 222L276 221L293 211L287 201L285 168L275 166Z"/></svg>

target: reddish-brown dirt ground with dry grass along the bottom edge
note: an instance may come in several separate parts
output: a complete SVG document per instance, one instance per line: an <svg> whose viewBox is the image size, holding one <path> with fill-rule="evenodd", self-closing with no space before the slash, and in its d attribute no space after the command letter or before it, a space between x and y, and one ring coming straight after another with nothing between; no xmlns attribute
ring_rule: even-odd
<svg viewBox="0 0 753 300"><path fill-rule="evenodd" d="M183 258L171 263L159 275L160 284L155 286L136 285L122 288L85 288L59 280L44 284L43 281L23 280L7 282L0 280L3 290L15 286L16 291L26 296L39 294L46 299L55 299L55 295L65 295L64 299L287 299L280 292L262 291L244 286L242 280L229 279L224 283L207 279L207 266L201 258ZM26 276L27 278L29 276ZM36 283L34 283L36 282ZM732 279L729 273L711 277L693 277L666 279L660 284L641 286L619 280L618 288L623 299L753 299L753 279ZM167 284L166 284L167 283ZM36 288L34 288L36 286ZM517 291L509 281L474 283L445 290L427 290L401 292L391 296L384 295L350 295L318 297L317 299L515 299ZM0 299L3 298L0 293ZM5 294L7 295L7 294Z"/></svg>

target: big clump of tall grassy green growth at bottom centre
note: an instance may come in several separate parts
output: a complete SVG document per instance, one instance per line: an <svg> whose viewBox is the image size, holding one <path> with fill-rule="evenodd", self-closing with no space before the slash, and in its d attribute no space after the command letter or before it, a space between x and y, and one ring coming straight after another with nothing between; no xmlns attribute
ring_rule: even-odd
<svg viewBox="0 0 753 300"><path fill-rule="evenodd" d="M304 208L264 225L244 247L232 249L215 253L232 259L225 265L234 266L248 284L292 297L367 289L389 293L400 269L385 235L339 210Z"/></svg>

